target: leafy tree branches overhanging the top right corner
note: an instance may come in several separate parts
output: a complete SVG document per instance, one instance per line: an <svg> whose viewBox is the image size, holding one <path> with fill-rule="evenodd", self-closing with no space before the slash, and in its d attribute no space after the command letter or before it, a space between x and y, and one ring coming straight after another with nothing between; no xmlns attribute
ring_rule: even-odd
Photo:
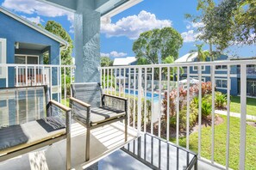
<svg viewBox="0 0 256 170"><path fill-rule="evenodd" d="M200 0L203 1L203 0ZM208 0L209 1L209 0ZM256 42L256 1L225 0L202 15L199 39L214 39L217 52L228 46Z"/></svg>

